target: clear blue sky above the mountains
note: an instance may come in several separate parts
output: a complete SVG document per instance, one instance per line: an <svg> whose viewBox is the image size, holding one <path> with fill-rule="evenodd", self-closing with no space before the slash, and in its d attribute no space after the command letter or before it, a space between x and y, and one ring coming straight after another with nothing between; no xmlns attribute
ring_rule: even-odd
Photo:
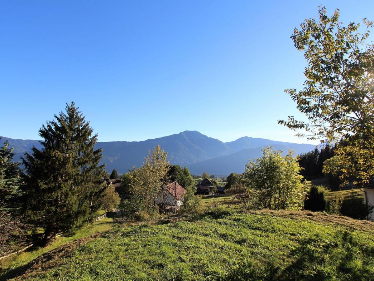
<svg viewBox="0 0 374 281"><path fill-rule="evenodd" d="M72 100L99 141L184 130L305 142L283 90L306 62L289 38L321 1L1 1L0 135L39 139ZM374 1L325 1L341 21Z"/></svg>

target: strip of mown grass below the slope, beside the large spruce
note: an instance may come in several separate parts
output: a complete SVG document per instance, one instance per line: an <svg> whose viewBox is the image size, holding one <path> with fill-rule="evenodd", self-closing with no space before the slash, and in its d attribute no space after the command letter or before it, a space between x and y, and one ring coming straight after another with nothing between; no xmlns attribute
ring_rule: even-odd
<svg viewBox="0 0 374 281"><path fill-rule="evenodd" d="M105 213L101 212L102 214ZM100 215L102 215L100 214ZM56 237L47 247L41 248L30 248L22 253L14 254L13 256L7 257L1 260L1 273L5 273L11 269L18 268L19 266L25 265L28 262L36 259L44 253L47 253L61 245L64 245L68 242L74 241L76 239L90 236L96 232L101 232L104 230L111 229L113 227L112 218L105 217L102 220L96 221L92 225L82 227L77 230L77 232L72 236L59 236ZM1 279L1 275L0 275Z"/></svg>

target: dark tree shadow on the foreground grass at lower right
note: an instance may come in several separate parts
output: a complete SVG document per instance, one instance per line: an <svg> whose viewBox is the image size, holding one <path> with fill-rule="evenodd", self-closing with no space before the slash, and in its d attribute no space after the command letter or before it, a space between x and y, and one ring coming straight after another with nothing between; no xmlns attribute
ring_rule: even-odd
<svg viewBox="0 0 374 281"><path fill-rule="evenodd" d="M337 242L325 241L318 236L300 241L297 248L289 252L286 260L292 262L282 268L281 260L266 257L258 263L245 261L234 269L225 280L372 280L372 272L356 268L355 253L358 242L350 232L338 234L341 251L334 254ZM372 250L372 249L371 249ZM371 251L370 250L370 251ZM369 250L368 250L369 251ZM366 254L366 253L365 253ZM374 256L371 253L371 256Z"/></svg>

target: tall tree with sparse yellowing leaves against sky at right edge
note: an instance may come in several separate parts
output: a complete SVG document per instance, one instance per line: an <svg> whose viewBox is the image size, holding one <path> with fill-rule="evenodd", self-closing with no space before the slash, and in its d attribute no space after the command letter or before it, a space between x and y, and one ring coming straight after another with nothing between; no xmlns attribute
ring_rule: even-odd
<svg viewBox="0 0 374 281"><path fill-rule="evenodd" d="M338 10L329 17L319 7L318 19L295 28L291 38L307 60L306 81L303 90L285 91L308 121L289 116L279 123L309 139L342 138L346 145L338 145L334 156L341 178L367 183L374 175L374 45L366 42L373 22L364 18L363 23L360 33L354 22L342 26ZM328 165L325 172L331 172Z"/></svg>

